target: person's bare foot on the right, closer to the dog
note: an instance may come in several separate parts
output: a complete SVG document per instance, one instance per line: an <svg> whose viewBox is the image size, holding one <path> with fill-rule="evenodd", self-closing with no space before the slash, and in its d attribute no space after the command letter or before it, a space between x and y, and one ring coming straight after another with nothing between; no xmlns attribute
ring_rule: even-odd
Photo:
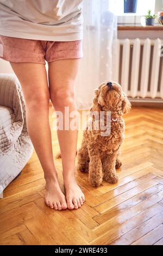
<svg viewBox="0 0 163 256"><path fill-rule="evenodd" d="M85 201L85 197L75 178L72 176L71 178L68 176L64 177L64 185L68 209L80 208Z"/></svg>

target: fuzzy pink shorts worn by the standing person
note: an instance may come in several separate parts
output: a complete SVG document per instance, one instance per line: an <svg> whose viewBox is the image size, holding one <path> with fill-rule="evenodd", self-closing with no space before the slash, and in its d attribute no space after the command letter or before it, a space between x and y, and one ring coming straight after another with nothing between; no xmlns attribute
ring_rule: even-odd
<svg viewBox="0 0 163 256"><path fill-rule="evenodd" d="M83 57L82 40L42 41L0 35L0 58L9 62L45 64L60 59Z"/></svg>

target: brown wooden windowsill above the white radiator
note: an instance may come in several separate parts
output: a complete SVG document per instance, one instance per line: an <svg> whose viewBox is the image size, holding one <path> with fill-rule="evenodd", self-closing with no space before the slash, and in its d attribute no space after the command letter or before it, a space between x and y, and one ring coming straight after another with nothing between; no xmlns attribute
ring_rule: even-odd
<svg viewBox="0 0 163 256"><path fill-rule="evenodd" d="M162 31L163 26L141 26L140 24L118 24L118 31Z"/></svg>

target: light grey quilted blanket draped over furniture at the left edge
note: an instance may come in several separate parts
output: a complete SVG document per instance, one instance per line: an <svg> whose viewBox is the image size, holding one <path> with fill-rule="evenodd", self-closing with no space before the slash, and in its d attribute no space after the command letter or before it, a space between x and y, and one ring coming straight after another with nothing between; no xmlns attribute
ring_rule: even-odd
<svg viewBox="0 0 163 256"><path fill-rule="evenodd" d="M32 153L20 83L13 74L0 74L0 194Z"/></svg>

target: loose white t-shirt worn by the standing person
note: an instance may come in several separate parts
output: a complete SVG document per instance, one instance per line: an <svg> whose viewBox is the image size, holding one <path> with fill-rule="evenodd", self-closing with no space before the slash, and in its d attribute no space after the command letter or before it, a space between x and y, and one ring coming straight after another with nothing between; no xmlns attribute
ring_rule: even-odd
<svg viewBox="0 0 163 256"><path fill-rule="evenodd" d="M83 39L83 0L0 0L0 35L46 41Z"/></svg>

